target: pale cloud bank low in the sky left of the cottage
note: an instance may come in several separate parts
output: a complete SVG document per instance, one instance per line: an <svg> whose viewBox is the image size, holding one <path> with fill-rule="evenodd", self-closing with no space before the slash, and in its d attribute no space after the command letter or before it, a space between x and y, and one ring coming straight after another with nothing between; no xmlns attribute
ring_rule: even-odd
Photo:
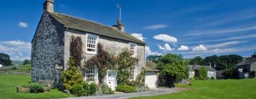
<svg viewBox="0 0 256 99"><path fill-rule="evenodd" d="M12 60L30 59L31 42L21 40L0 41L0 52L9 54Z"/></svg>

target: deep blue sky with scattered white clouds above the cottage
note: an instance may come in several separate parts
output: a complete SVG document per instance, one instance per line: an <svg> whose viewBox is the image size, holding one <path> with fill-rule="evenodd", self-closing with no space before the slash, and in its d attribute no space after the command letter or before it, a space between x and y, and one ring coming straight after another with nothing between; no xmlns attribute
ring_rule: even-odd
<svg viewBox="0 0 256 99"><path fill-rule="evenodd" d="M44 0L8 0L0 4L0 52L30 59L31 40ZM255 0L55 0L55 11L105 25L117 21L122 5L126 32L147 43L147 54L213 54L249 57L256 51Z"/></svg>

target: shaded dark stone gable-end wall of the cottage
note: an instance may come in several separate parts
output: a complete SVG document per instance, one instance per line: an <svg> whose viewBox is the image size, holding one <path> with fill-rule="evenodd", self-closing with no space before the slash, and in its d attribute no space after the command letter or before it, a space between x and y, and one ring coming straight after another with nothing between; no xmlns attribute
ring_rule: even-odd
<svg viewBox="0 0 256 99"><path fill-rule="evenodd" d="M60 70L55 64L63 64L64 28L48 13L43 13L32 41L31 76L32 81L53 81L60 85Z"/></svg>

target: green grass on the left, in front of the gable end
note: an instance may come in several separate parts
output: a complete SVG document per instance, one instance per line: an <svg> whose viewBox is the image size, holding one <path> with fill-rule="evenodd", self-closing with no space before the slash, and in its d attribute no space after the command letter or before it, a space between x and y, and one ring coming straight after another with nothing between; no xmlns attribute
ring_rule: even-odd
<svg viewBox="0 0 256 99"><path fill-rule="evenodd" d="M72 95L62 93L57 89L45 93L16 93L16 87L31 81L28 75L0 74L0 99L11 98L66 98Z"/></svg>

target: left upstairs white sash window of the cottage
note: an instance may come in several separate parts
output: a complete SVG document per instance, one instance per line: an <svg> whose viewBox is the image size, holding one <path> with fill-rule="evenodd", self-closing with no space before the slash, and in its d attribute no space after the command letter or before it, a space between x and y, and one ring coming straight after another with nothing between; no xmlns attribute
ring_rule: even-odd
<svg viewBox="0 0 256 99"><path fill-rule="evenodd" d="M87 34L87 46L86 46L86 52L88 54L96 54L97 53L97 43L99 40L99 36Z"/></svg>

